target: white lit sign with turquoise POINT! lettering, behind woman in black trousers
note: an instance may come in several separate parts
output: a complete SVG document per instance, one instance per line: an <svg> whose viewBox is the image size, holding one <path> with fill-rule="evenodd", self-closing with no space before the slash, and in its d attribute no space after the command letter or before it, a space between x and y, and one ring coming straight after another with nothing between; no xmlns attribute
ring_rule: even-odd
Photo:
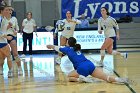
<svg viewBox="0 0 140 93"><path fill-rule="evenodd" d="M52 32L37 32L37 36L35 33L33 34L33 50L49 50L46 48L48 44L53 44ZM20 33L17 34L17 48L18 51L23 51L23 38ZM28 49L29 47L27 45Z"/></svg>

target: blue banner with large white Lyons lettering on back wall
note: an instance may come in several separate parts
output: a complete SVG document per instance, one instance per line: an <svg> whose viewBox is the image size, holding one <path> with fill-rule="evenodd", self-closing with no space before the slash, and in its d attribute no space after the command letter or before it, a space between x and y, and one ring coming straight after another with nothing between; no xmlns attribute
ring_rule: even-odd
<svg viewBox="0 0 140 93"><path fill-rule="evenodd" d="M108 8L114 18L131 16L140 17L140 0L62 0L62 18L66 18L66 11L70 10L74 18L85 13L88 18L99 18L101 7Z"/></svg>

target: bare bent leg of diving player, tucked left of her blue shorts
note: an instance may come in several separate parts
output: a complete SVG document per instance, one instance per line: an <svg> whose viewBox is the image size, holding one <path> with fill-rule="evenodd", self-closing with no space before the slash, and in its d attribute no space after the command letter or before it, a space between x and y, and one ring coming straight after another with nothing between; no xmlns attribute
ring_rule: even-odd
<svg viewBox="0 0 140 93"><path fill-rule="evenodd" d="M79 74L77 73L76 70L73 70L68 74L68 78L69 81L78 82Z"/></svg>

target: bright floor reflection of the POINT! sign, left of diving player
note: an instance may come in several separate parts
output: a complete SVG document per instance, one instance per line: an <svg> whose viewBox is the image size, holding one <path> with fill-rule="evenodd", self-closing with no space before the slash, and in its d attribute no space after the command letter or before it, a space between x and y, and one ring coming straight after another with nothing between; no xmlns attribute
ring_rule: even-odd
<svg viewBox="0 0 140 93"><path fill-rule="evenodd" d="M32 59L27 57L22 59L21 65L24 77L54 77L54 56L46 55L45 58L44 55L42 57L40 55L35 55ZM7 62L4 63L3 68L3 76L4 78L7 78ZM18 76L17 65L15 62L13 62L13 69L14 77Z"/></svg>

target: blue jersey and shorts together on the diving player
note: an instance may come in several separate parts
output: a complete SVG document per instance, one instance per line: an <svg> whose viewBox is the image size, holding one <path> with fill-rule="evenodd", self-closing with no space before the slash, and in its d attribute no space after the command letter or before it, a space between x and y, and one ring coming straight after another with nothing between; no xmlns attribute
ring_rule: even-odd
<svg viewBox="0 0 140 93"><path fill-rule="evenodd" d="M95 70L95 65L88 60L80 51L74 51L73 47L63 47L59 50L67 54L68 58L72 62L74 69L77 70L77 73L83 76L88 76L93 73Z"/></svg>

